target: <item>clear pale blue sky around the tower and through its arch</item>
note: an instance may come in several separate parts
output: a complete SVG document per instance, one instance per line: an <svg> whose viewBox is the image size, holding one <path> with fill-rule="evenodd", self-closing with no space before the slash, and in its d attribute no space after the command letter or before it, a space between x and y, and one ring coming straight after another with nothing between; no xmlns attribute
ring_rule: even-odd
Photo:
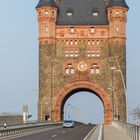
<svg viewBox="0 0 140 140"><path fill-rule="evenodd" d="M33 119L36 119L38 101L37 3L38 0L0 1L0 113L21 113L23 105L28 104ZM127 97L128 110L131 111L140 106L140 1L127 0L127 3L130 7L127 21ZM103 120L103 106L94 94L77 93L67 100L66 104L69 103L79 110L75 119L93 123Z"/></svg>

